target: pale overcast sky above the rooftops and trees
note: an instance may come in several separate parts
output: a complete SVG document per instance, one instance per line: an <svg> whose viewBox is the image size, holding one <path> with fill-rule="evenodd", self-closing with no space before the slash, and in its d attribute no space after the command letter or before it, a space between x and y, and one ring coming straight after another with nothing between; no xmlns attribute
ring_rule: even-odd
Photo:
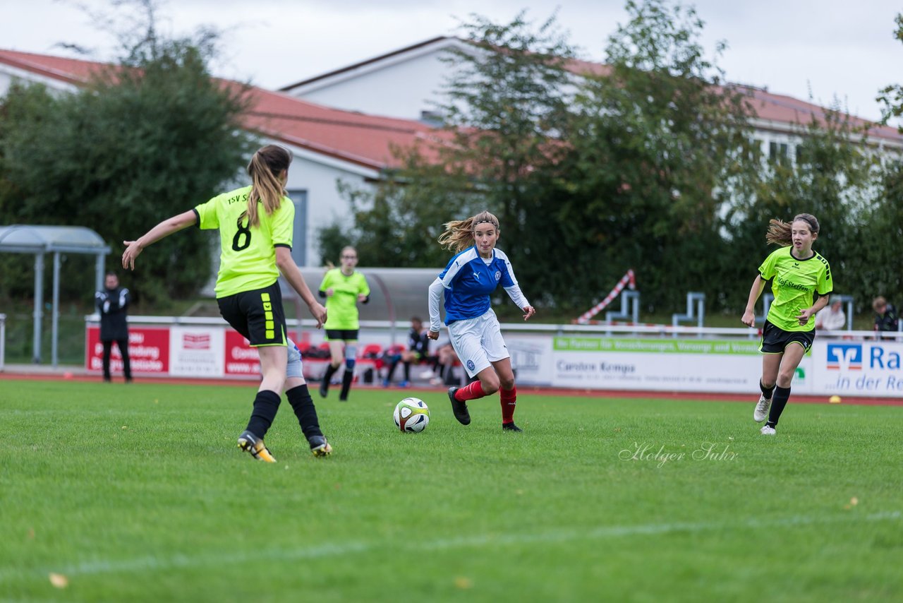
<svg viewBox="0 0 903 603"><path fill-rule="evenodd" d="M0 48L68 55L57 42L98 49L111 38L70 0L0 0ZM81 0L112 8L112 0ZM209 24L225 31L218 75L276 89L439 35L454 35L472 13L508 23L526 8L558 22L582 49L604 59L605 43L626 20L623 0L162 0L163 30L186 34ZM903 43L893 37L903 3L890 0L697 0L703 43L728 43L719 64L729 80L880 118L881 87L903 83ZM105 54L106 52L106 54Z"/></svg>

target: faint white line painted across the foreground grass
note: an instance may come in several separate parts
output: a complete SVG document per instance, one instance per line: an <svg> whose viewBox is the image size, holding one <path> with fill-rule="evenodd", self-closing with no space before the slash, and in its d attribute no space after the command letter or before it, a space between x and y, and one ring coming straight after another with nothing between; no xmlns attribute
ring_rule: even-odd
<svg viewBox="0 0 903 603"><path fill-rule="evenodd" d="M738 529L792 528L799 525L824 523L882 522L903 518L899 511L857 515L854 511L833 517L795 516L784 519L746 519L735 523L647 523L639 525L607 525L594 528L566 528L535 533L479 534L459 538L442 538L426 542L342 542L325 543L296 549L271 548L256 551L236 551L232 553L212 552L206 554L176 554L167 557L136 557L131 560L85 561L74 565L43 570L0 570L0 582L19 578L46 579L51 572L69 578L107 573L147 572L154 570L178 570L207 566L234 565L260 560L297 561L322 559L342 555L378 551L389 547L399 547L407 551L445 551L452 549L479 548L488 545L510 545L549 542L573 542L581 540L604 540L623 536L665 534L671 532L710 532Z"/></svg>

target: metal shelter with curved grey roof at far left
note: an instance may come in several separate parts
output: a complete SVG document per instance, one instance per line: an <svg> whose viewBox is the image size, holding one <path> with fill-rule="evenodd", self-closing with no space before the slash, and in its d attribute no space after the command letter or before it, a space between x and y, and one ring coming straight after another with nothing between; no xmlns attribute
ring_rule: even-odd
<svg viewBox="0 0 903 603"><path fill-rule="evenodd" d="M83 226L32 226L13 224L0 227L0 252L34 254L33 362L41 363L41 330L44 315L44 256L53 254L53 309L51 360L57 366L60 328L60 255L81 253L97 256L95 291L104 283L104 265L110 248L100 235Z"/></svg>

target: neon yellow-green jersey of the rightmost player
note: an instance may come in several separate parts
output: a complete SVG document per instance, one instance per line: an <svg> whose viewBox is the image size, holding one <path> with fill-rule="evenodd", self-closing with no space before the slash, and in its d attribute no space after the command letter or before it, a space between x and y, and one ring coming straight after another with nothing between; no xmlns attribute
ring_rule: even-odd
<svg viewBox="0 0 903 603"><path fill-rule="evenodd" d="M768 322L785 331L811 331L815 315L805 325L800 325L796 316L812 306L816 292L819 296L832 292L831 266L815 251L808 259L796 259L792 251L793 247L775 250L759 266L762 278L774 278L771 293L775 300L768 309Z"/></svg>

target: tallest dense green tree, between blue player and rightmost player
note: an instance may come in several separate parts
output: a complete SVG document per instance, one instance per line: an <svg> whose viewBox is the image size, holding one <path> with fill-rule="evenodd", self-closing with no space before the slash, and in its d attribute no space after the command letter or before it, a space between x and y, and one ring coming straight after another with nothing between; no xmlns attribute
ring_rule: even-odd
<svg viewBox="0 0 903 603"><path fill-rule="evenodd" d="M714 62L724 45L705 58L694 9L647 0L627 11L608 71L587 74L578 94L553 221L575 263L603 274L595 291L632 267L648 309L674 311L689 290L717 304L719 216L755 174L749 103Z"/></svg>

